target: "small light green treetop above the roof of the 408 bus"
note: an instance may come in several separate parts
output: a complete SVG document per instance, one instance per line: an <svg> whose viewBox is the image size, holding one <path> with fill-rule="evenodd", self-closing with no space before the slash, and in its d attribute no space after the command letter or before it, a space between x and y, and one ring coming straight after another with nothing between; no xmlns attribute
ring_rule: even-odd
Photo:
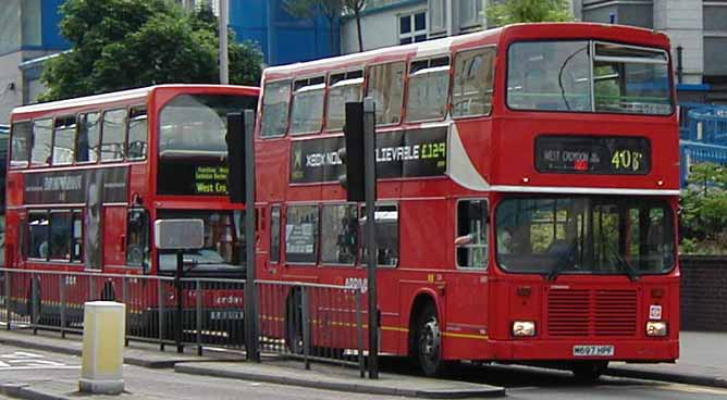
<svg viewBox="0 0 727 400"><path fill-rule="evenodd" d="M568 0L504 0L491 2L488 7L488 22L491 26L572 20Z"/></svg>

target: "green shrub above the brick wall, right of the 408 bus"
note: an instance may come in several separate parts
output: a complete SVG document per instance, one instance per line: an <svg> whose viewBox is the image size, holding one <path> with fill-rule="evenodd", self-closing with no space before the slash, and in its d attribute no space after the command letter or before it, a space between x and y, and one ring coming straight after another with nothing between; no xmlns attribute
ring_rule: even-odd
<svg viewBox="0 0 727 400"><path fill-rule="evenodd" d="M727 167L692 165L681 196L682 251L727 253Z"/></svg>

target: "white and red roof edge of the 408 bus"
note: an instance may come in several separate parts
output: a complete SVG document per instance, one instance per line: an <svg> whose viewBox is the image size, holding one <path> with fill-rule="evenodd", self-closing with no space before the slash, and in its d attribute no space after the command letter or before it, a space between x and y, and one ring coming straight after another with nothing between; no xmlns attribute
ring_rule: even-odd
<svg viewBox="0 0 727 400"><path fill-rule="evenodd" d="M352 53L330 59L315 60L304 63L272 66L266 68L266 79L279 79L291 76L315 74L320 71L362 66L365 63L378 62L396 55L412 54L416 58L426 58L448 52L452 48L496 43L502 45L514 40L533 39L579 39L602 38L623 42L632 42L654 46L668 50L668 37L662 33L625 25L608 25L594 23L537 23L513 24L503 27L475 32L459 36L451 36L410 45L393 46L375 50Z"/></svg>

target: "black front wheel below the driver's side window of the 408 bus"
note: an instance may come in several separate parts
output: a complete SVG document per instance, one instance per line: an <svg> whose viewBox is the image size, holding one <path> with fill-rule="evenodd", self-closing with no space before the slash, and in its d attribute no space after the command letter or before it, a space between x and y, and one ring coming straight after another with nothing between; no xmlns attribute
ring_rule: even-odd
<svg viewBox="0 0 727 400"><path fill-rule="evenodd" d="M433 303L423 308L415 333L414 350L421 372L427 376L446 375L449 363L442 359L442 332Z"/></svg>

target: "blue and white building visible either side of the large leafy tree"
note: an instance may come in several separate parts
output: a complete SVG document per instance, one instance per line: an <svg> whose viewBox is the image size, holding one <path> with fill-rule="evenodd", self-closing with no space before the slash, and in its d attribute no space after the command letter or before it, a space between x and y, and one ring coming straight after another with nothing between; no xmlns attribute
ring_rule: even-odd
<svg viewBox="0 0 727 400"><path fill-rule="evenodd" d="M287 64L338 54L338 21L333 33L323 16L296 18L283 0L229 0L230 27L238 40L251 40L268 65ZM65 0L0 0L0 124L8 124L13 108L29 104L45 91L44 62L70 43L59 30L59 7ZM176 0L192 10L220 0ZM331 43L333 36L333 43Z"/></svg>

